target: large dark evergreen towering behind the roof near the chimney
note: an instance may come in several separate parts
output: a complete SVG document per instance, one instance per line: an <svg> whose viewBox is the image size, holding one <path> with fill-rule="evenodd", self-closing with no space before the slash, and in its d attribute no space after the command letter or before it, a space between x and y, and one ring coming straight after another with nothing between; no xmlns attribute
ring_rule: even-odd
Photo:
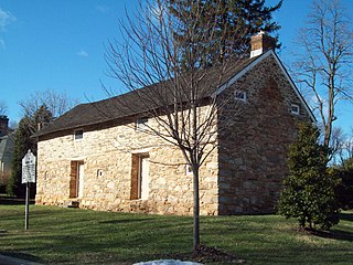
<svg viewBox="0 0 353 265"><path fill-rule="evenodd" d="M266 7L265 0L169 0L167 2L170 12L180 23L173 33L182 47L181 65L186 70L191 67L188 65L189 57L195 56L193 54L195 50L201 56L197 66L208 67L222 64L229 55L248 56L252 35L259 31L276 33L280 29L279 24L272 21L272 12L281 7L282 0L274 7ZM210 21L214 21L212 31L208 31L207 26ZM247 29L246 34L239 31L242 28ZM190 35L190 31L194 33L193 36ZM190 38L193 38L193 41ZM208 39L207 42L202 41L204 38Z"/></svg>

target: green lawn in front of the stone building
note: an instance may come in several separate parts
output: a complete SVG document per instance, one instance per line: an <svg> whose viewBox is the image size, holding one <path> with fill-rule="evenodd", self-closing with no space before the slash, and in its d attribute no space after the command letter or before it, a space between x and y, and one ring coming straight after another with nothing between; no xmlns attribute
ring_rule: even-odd
<svg viewBox="0 0 353 265"><path fill-rule="evenodd" d="M327 236L277 215L201 219L201 241L246 264L353 264L353 212ZM44 264L131 264L175 258L192 248L192 218L0 205L0 254Z"/></svg>

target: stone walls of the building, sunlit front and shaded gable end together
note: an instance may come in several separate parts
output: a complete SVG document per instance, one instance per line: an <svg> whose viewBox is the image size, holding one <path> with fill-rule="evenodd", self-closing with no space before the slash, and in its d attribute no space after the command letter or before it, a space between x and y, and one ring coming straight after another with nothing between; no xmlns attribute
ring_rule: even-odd
<svg viewBox="0 0 353 265"><path fill-rule="evenodd" d="M246 92L246 100L236 99L235 91ZM201 214L274 212L288 172L288 147L297 123L310 120L309 114L272 56L222 96L227 104L217 114L218 146L200 169ZM292 104L300 115L291 114ZM38 204L78 201L81 208L101 211L192 214L192 174L178 148L127 120L83 129L79 140L73 130L40 139ZM148 200L131 199L136 153L150 159ZM71 199L73 161L84 162L85 174L83 194Z"/></svg>

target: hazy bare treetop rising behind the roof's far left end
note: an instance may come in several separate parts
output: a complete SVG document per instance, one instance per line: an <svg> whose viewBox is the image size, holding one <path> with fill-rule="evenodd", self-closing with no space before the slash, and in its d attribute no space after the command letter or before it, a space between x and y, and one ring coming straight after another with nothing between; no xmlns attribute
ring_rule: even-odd
<svg viewBox="0 0 353 265"><path fill-rule="evenodd" d="M45 104L53 117L58 117L77 104L76 99L69 98L65 93L53 89L35 92L29 98L19 102L23 116L32 117L40 107Z"/></svg>

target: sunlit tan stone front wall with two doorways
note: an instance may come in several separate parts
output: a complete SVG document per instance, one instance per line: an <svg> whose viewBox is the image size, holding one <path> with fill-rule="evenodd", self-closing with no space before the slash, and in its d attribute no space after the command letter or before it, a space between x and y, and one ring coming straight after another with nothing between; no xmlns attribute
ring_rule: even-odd
<svg viewBox="0 0 353 265"><path fill-rule="evenodd" d="M40 139L38 149L36 204L65 206L78 201L81 208L101 211L192 214L192 174L186 173L181 151L156 136L136 130L135 123L84 128L83 139L78 140L74 139L74 131L53 135ZM148 200L130 199L135 153L149 155ZM218 213L217 157L215 149L200 169L203 215ZM83 161L85 173L83 194L71 199L72 161Z"/></svg>

